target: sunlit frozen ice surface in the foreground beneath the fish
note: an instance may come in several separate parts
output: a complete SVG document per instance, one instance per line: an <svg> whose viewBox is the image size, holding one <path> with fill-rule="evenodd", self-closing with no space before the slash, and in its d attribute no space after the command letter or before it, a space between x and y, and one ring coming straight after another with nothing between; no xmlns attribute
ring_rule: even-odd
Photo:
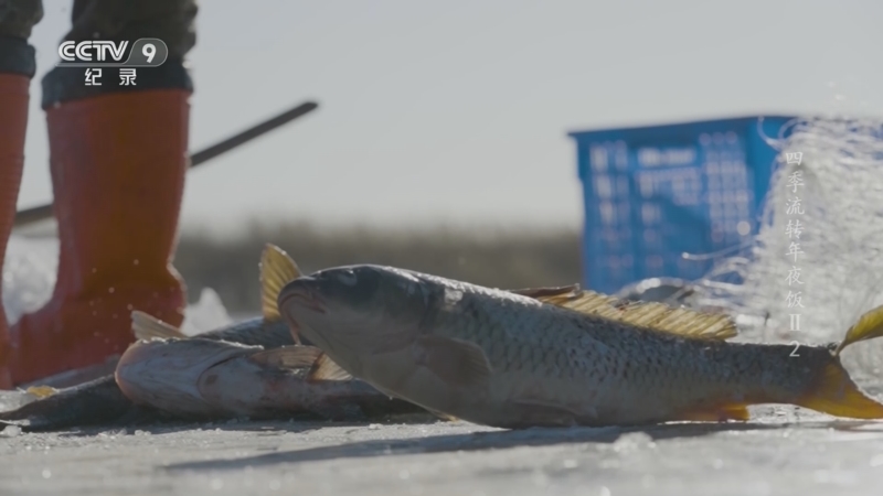
<svg viewBox="0 0 883 496"><path fill-rule="evenodd" d="M241 422L23 433L0 438L0 494L880 494L881 425L796 421L786 412L638 430Z"/></svg>

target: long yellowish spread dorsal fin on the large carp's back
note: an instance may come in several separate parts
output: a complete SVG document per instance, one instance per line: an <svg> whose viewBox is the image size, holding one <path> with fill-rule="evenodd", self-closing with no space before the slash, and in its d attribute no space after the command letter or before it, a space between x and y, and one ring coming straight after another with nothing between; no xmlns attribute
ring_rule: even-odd
<svg viewBox="0 0 883 496"><path fill-rule="evenodd" d="M629 302L594 291L541 295L536 299L579 313L684 337L723 341L737 334L735 321L723 313L675 309L657 302Z"/></svg>

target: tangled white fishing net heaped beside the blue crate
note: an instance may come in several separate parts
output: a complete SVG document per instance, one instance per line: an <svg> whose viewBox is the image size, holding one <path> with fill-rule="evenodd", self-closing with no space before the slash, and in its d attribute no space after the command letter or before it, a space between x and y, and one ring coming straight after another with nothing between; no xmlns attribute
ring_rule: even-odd
<svg viewBox="0 0 883 496"><path fill-rule="evenodd" d="M790 129L788 138L768 137L779 166L759 233L700 281L700 303L768 317L746 327L746 339L840 341L883 303L883 121L809 118ZM743 283L721 282L734 272ZM799 315L794 331L791 314ZM882 357L879 342L844 353L865 374L876 374Z"/></svg>

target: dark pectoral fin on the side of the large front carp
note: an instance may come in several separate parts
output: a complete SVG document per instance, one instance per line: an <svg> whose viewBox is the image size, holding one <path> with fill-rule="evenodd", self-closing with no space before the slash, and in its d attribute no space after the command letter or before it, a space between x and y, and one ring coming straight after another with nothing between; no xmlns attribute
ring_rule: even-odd
<svg viewBox="0 0 883 496"><path fill-rule="evenodd" d="M422 336L415 343L417 364L455 387L485 386L491 367L475 343L439 336Z"/></svg>

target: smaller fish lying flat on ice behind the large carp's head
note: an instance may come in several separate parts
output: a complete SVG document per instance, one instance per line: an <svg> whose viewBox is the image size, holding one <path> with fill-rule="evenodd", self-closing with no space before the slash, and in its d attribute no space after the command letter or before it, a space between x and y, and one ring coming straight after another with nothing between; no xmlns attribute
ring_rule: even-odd
<svg viewBox="0 0 883 496"><path fill-rule="evenodd" d="M264 349L200 338L139 341L119 360L117 382L137 405L182 419L312 416L358 420L425 410L391 399L334 367L315 346Z"/></svg>

